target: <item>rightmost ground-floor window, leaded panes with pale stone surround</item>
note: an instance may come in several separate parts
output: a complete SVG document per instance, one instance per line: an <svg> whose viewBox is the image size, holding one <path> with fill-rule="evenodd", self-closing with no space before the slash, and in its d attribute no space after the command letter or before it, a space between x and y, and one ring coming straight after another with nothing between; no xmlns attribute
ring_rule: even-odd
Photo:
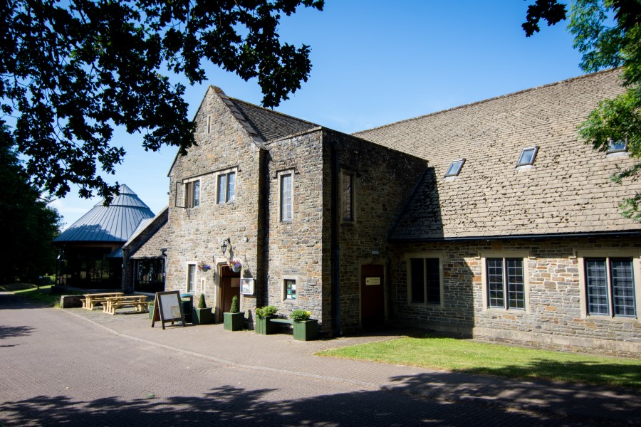
<svg viewBox="0 0 641 427"><path fill-rule="evenodd" d="M581 311L585 316L637 317L638 257L625 251L579 254Z"/></svg>

